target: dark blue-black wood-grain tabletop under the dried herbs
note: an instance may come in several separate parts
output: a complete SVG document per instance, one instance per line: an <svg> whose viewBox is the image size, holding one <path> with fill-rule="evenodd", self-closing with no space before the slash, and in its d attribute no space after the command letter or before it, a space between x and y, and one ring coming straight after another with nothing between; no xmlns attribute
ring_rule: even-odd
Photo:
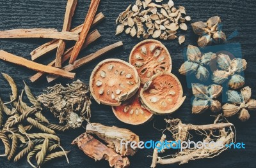
<svg viewBox="0 0 256 168"><path fill-rule="evenodd" d="M90 64L82 67L77 71L77 79L88 83L90 73L92 73L93 67L97 65L101 60L108 58L118 58L128 60L129 53L136 43L142 39L131 38L126 34L115 36L115 19L120 12L124 11L129 4L135 3L135 0L129 1L101 1L99 11L102 11L106 16L106 20L102 22L97 29L102 37L88 49L83 50L79 55L84 56L89 53L95 52L100 48L122 40L124 42L124 48L115 52L109 53L104 57L94 60ZM74 16L72 27L83 23L84 16L88 10L90 1L79 1L76 14ZM228 43L240 43L243 58L247 60L248 66L245 71L246 85L253 89L252 97L256 99L256 3L252 0L246 1L227 1L227 0L202 0L202 1L189 1L180 0L175 1L175 5L185 6L186 12L193 19L192 22L199 20L206 21L207 18L214 15L219 15L223 23L223 31L229 36L234 31L238 31L239 35L233 39L230 39ZM0 30L18 29L18 28L56 28L59 31L62 29L63 17L65 15L66 1L42 1L42 0L10 0L0 1ZM186 35L186 41L184 44L179 45L176 40L163 41L164 45L168 48L172 55L173 70L184 88L184 94L187 96L186 101L182 107L172 115L173 118L180 118L184 123L193 124L207 124L212 123L214 118L211 112L206 112L204 115L192 115L191 114L191 89L186 87L186 76L182 76L178 73L178 69L182 62L184 62L182 52L188 45L196 45L197 36L193 34L191 25L187 32L179 32L179 34ZM7 52L20 55L26 59L30 59L29 53L39 45L49 41L49 39L1 39L0 49ZM47 63L54 58L55 52L49 53L44 58L38 60L38 62ZM48 84L45 79L38 81L37 83L31 83L29 76L35 74L34 71L30 71L24 67L15 66L6 62L0 61L0 68L2 73L10 74L17 82L19 89L21 90L24 85L22 80L26 81L31 87L31 90L35 95L42 93L44 88L54 85L54 83ZM70 83L72 80L58 80L56 83ZM0 94L4 101L8 101L10 88L6 81L0 76ZM243 142L246 144L244 150L228 150L218 157L205 158L202 160L191 161L184 165L165 165L159 167L256 167L256 115L255 112L250 113L251 118L248 122L242 123L236 117L231 118L230 122L236 125L237 130L237 142ZM47 117L51 122L57 122L51 113L47 114ZM104 125L115 125L116 127L123 127L131 129L140 136L142 141L154 140L158 141L161 137L161 131L157 129L164 129L164 120L162 116L156 116L152 122L140 126L131 126L120 122L116 119L115 115L108 106L98 105L95 101L92 104L92 122L99 122ZM155 129L153 127L156 127ZM61 137L61 142L66 150L71 150L69 155L70 164L65 162L65 158L54 160L53 162L46 164L45 167L108 167L108 163L105 161L95 162L92 158L86 157L83 151L80 151L77 146L72 146L70 143L74 138L84 132L84 129L70 130L65 133L58 133ZM170 137L170 134L168 134ZM3 145L0 144L1 153L3 153ZM151 157L153 150L141 150L135 157L131 157L131 167L150 167ZM6 158L0 158L0 167L29 167L26 159L18 162L8 162Z"/></svg>

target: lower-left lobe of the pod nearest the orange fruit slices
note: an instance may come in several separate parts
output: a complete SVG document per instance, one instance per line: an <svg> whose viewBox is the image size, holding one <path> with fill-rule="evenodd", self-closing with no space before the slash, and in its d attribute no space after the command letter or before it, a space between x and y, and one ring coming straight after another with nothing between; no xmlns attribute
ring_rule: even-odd
<svg viewBox="0 0 256 168"><path fill-rule="evenodd" d="M200 114L204 113L205 110L209 108L209 101L204 99L198 99L197 97L193 100L192 103L192 113Z"/></svg>

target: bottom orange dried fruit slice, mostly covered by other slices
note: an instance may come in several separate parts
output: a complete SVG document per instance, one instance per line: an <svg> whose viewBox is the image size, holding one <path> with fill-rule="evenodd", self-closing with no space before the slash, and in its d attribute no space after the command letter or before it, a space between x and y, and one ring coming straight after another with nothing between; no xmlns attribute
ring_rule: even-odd
<svg viewBox="0 0 256 168"><path fill-rule="evenodd" d="M153 118L153 114L141 105L139 100L140 90L141 88L136 95L125 101L121 106L112 106L116 118L121 122L140 125L149 122Z"/></svg>

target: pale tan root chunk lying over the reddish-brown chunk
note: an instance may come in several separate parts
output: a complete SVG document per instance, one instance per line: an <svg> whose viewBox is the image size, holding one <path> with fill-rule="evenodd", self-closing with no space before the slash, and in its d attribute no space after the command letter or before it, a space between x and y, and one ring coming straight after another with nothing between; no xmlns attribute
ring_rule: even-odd
<svg viewBox="0 0 256 168"><path fill-rule="evenodd" d="M133 156L138 150L138 148L131 148L131 145L125 145L126 143L135 141L135 146L137 146L140 142L140 137L131 132L131 130L121 129L115 126L108 127L100 123L88 123L86 126L86 132L88 134L94 134L102 139L108 144L109 148L113 148L116 153L120 153L123 157Z"/></svg>

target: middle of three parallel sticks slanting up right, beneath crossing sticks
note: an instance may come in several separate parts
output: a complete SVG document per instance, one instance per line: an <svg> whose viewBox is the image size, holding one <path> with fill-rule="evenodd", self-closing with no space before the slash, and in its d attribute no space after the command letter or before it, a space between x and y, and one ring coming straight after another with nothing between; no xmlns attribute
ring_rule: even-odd
<svg viewBox="0 0 256 168"><path fill-rule="evenodd" d="M91 32L89 35L88 35L88 38L86 38L86 40L84 41L84 45L82 47L82 50L84 48L86 48L88 45L90 45L91 43L93 43L94 41L96 41L97 39L100 38L100 33L99 31L95 30L93 32ZM62 64L63 62L65 62L66 60L68 60L71 56L71 53L72 53L72 50L73 50L73 47L72 48L69 48L63 55L63 58L61 60ZM47 66L54 66L55 65L55 61L56 60L53 60L50 64L48 64ZM39 73L36 73L35 75L31 76L30 77L30 80L32 82L35 82L37 81L38 79L40 79L42 76L44 75L44 73L42 72L39 72Z"/></svg>

